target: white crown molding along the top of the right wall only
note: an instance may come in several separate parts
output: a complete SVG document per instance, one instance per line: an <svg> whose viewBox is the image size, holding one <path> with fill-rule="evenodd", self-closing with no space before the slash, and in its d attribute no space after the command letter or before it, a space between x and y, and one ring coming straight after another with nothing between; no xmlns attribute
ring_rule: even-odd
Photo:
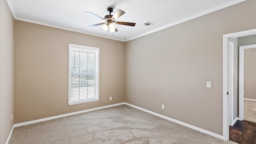
<svg viewBox="0 0 256 144"><path fill-rule="evenodd" d="M130 41L130 40L134 40L134 39L136 39L136 38L140 38L140 37L142 37L142 36L146 36L146 35L148 35L148 34L152 34L152 33L154 33L154 32L163 30L163 29L165 29L165 28L169 28L169 27L171 27L171 26L175 26L175 25L180 24L180 23L182 23L182 22L186 22L186 21L188 21L188 20L192 20L192 19L194 19L194 18L198 18L198 17L200 17L200 16L204 16L204 15L209 14L209 13L211 13L211 12L215 12L215 11L217 11L217 10L221 10L221 9L223 9L223 8L226 8L226 7L229 7L229 6L232 6L232 5L234 5L234 4L238 4L238 3L240 3L240 2L244 2L244 1L246 1L246 0L234 0L234 1L231 1L231 2L227 2L227 3L222 4L222 5L220 5L220 6L216 6L216 7L214 7L214 8L210 8L209 10L205 10L205 11L203 11L203 12L199 12L199 13L194 14L194 15L192 15L192 16L189 16L189 17L187 17L187 18L183 18L183 19L178 20L178 21L176 21L176 22L167 24L167 25L162 26L162 27L160 27L160 28L156 28L156 29L154 29L154 30L152 30L152 31L150 31L150 32L146 32L146 33L144 33L144 34L140 34L140 35L138 35L138 36L134 36L134 37L132 37L132 38L128 38L125 42L128 42L128 41Z"/></svg>

